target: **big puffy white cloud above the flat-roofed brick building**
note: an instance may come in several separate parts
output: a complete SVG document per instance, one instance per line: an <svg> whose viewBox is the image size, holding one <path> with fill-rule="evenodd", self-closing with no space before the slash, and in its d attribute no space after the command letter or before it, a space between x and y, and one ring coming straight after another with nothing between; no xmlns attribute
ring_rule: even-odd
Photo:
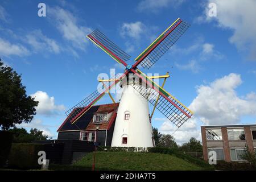
<svg viewBox="0 0 256 182"><path fill-rule="evenodd" d="M241 84L241 76L230 73L209 85L198 86L197 97L189 109L205 125L236 124L242 116L255 115L255 93L237 96L236 88Z"/></svg>

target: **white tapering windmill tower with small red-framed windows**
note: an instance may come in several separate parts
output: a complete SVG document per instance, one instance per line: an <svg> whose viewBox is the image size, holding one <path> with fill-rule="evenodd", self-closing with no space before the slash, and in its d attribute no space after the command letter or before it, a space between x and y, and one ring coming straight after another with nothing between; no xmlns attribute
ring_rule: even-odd
<svg viewBox="0 0 256 182"><path fill-rule="evenodd" d="M134 83L126 80L120 84L123 90L111 146L154 147L148 101L131 84Z"/></svg>

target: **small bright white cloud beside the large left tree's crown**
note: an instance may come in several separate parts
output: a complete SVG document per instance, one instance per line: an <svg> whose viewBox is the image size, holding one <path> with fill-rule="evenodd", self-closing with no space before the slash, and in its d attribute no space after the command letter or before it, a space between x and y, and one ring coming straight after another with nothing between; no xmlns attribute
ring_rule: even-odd
<svg viewBox="0 0 256 182"><path fill-rule="evenodd" d="M37 91L31 94L31 97L35 97L35 101L39 101L36 107L36 113L46 116L52 116L59 113L59 111L65 110L64 105L56 105L54 97L49 97L46 92Z"/></svg>

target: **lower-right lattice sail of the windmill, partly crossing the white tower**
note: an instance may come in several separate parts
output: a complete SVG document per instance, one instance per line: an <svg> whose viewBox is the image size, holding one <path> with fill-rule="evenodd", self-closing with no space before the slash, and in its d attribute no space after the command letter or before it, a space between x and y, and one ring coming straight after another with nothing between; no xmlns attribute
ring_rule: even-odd
<svg viewBox="0 0 256 182"><path fill-rule="evenodd" d="M174 96L161 88L158 84L144 75L141 71L136 72L131 69L135 76L138 76L145 85L133 84L133 88L137 90L152 105L156 105L156 109L166 116L174 125L180 127L193 115L192 111L181 104ZM150 93L150 96L148 96ZM159 99L157 100L159 96Z"/></svg>

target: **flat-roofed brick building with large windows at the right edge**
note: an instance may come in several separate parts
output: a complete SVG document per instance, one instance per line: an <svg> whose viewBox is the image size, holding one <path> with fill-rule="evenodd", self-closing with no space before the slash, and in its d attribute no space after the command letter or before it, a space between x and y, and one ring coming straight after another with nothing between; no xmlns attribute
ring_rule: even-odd
<svg viewBox="0 0 256 182"><path fill-rule="evenodd" d="M217 160L244 162L246 145L256 150L256 125L201 126L204 160L209 151L216 151Z"/></svg>

